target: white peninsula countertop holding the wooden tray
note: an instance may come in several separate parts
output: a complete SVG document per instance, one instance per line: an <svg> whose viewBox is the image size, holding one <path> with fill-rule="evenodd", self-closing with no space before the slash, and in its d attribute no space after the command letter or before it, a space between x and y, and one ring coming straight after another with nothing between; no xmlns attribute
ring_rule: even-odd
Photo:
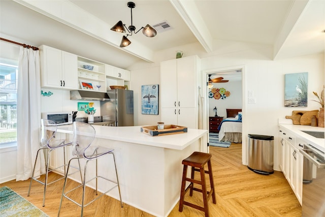
<svg viewBox="0 0 325 217"><path fill-rule="evenodd" d="M107 127L93 125L96 136L95 138L110 139L121 142L136 143L162 148L171 148L183 150L185 147L207 135L207 130L187 129L187 133L149 136L141 132L140 126L135 127ZM72 125L63 125L57 127L58 133L73 133Z"/></svg>

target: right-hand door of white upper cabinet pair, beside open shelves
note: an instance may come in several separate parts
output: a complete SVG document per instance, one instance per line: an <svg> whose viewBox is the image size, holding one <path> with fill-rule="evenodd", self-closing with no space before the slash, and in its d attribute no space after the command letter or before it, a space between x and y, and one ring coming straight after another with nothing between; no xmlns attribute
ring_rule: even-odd
<svg viewBox="0 0 325 217"><path fill-rule="evenodd" d="M78 89L78 57L75 54L62 51L63 88Z"/></svg>

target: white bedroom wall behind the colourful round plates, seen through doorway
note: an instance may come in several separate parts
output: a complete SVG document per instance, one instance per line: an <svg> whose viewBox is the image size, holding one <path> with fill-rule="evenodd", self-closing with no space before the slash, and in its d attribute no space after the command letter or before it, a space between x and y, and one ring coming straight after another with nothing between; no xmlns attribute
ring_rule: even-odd
<svg viewBox="0 0 325 217"><path fill-rule="evenodd" d="M217 108L217 115L226 118L226 109L241 109L242 108L242 81L233 81L228 83L213 83L212 88L224 88L230 91L230 96L225 99L209 98L209 116L214 116L214 107ZM211 88L211 89L212 89ZM210 91L211 91L210 89Z"/></svg>

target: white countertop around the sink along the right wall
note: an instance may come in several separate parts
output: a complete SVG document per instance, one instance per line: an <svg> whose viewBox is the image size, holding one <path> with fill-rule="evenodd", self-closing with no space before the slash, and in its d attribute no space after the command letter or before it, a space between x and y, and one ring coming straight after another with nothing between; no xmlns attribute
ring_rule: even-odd
<svg viewBox="0 0 325 217"><path fill-rule="evenodd" d="M308 142L312 146L316 147L317 149L325 152L325 139L319 139L313 136L310 136L307 133L302 131L317 131L317 132L324 132L324 128L319 127L311 127L311 126L304 126L304 125L290 125L290 124L279 124L280 127L289 130L295 136L303 139L304 141Z"/></svg>

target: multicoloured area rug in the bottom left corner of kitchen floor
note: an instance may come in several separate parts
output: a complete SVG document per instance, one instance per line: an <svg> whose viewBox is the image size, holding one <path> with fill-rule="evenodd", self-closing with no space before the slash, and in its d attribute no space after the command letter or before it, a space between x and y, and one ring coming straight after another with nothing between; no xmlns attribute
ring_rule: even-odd
<svg viewBox="0 0 325 217"><path fill-rule="evenodd" d="M6 186L0 188L0 216L48 217L42 210Z"/></svg>

